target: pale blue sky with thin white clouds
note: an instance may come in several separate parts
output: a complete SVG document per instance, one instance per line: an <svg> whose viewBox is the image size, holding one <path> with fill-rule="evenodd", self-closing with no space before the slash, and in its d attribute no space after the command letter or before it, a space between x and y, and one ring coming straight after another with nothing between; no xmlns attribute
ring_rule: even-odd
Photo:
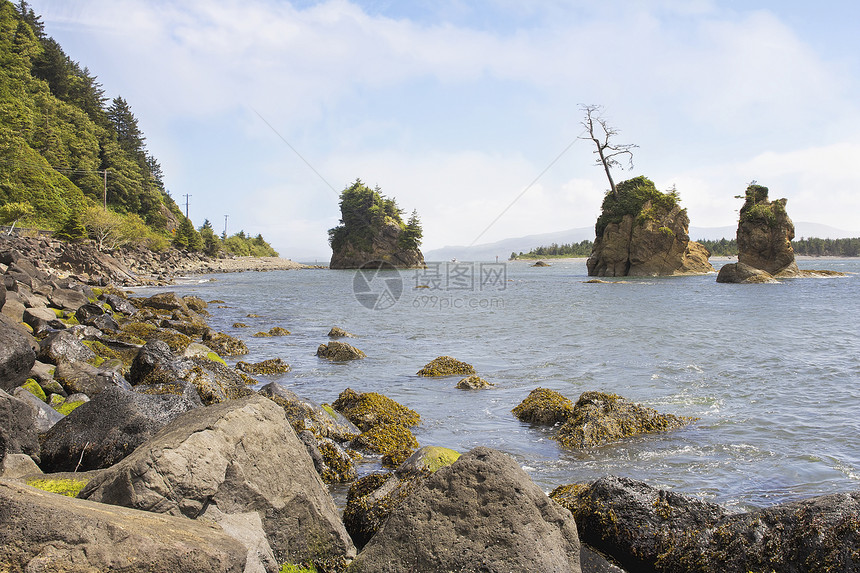
<svg viewBox="0 0 860 573"><path fill-rule="evenodd" d="M600 105L696 227L751 181L860 236L855 0L31 0L138 118L195 225L327 261L356 178L423 249L592 226Z"/></svg>

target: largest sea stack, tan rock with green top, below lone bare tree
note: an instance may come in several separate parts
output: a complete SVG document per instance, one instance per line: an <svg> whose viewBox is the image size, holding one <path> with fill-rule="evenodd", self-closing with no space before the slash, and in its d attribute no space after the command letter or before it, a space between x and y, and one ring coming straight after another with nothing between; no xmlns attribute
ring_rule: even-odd
<svg viewBox="0 0 860 573"><path fill-rule="evenodd" d="M714 272L710 253L691 241L687 210L676 191L662 193L643 176L607 192L594 231L588 275L690 275Z"/></svg>

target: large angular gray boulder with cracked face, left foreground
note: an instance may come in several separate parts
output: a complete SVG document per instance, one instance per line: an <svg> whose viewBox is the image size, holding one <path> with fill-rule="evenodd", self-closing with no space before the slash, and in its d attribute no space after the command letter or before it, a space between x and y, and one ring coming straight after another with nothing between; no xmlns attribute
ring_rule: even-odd
<svg viewBox="0 0 860 573"><path fill-rule="evenodd" d="M283 410L262 396L197 408L104 470L80 497L170 515L257 512L278 562L355 553Z"/></svg>

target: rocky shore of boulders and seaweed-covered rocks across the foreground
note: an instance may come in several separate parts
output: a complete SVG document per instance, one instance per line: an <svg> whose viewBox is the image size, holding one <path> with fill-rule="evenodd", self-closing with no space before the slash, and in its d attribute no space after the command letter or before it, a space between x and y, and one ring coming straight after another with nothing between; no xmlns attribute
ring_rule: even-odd
<svg viewBox="0 0 860 573"><path fill-rule="evenodd" d="M860 493L741 514L613 476L547 496L503 452L419 447L421 413L381 394L316 404L253 378L277 358L228 366L247 346L206 301L114 281L148 262L75 267L85 246L16 241L0 243L0 570L860 568ZM449 356L421 372L475 375ZM595 392L513 410L571 448L695 423ZM368 455L391 471L356 479ZM342 516L332 483L351 484Z"/></svg>

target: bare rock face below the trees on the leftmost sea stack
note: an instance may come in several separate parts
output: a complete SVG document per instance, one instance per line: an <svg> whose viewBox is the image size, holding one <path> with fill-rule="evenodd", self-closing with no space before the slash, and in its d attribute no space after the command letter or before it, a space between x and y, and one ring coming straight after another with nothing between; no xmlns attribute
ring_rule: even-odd
<svg viewBox="0 0 860 573"><path fill-rule="evenodd" d="M357 247L346 239L339 248L332 249L329 268L357 269L373 261L385 261L397 268L424 266L424 255L416 248L404 248L400 236L404 230L395 221L389 221L374 234L369 245Z"/></svg>

